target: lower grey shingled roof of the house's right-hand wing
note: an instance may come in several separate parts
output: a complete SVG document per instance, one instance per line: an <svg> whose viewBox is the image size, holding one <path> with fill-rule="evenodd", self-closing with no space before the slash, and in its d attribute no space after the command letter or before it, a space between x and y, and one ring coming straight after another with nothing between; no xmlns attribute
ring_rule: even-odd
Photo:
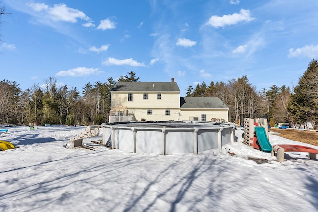
<svg viewBox="0 0 318 212"><path fill-rule="evenodd" d="M218 97L180 97L180 109L208 109L208 108L226 108Z"/></svg>

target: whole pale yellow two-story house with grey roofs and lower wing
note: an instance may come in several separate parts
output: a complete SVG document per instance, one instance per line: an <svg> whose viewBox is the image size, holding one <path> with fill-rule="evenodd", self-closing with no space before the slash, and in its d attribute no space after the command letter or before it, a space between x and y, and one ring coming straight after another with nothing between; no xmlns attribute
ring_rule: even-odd
<svg viewBox="0 0 318 212"><path fill-rule="evenodd" d="M173 78L171 82L117 82L111 90L109 122L228 122L228 111L218 97L180 97Z"/></svg>

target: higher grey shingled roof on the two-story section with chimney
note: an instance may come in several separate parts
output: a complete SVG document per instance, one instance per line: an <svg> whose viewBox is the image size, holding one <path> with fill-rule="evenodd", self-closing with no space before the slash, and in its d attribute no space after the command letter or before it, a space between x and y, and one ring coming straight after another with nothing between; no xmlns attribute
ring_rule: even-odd
<svg viewBox="0 0 318 212"><path fill-rule="evenodd" d="M112 91L180 92L180 89L176 82L117 82Z"/></svg>

